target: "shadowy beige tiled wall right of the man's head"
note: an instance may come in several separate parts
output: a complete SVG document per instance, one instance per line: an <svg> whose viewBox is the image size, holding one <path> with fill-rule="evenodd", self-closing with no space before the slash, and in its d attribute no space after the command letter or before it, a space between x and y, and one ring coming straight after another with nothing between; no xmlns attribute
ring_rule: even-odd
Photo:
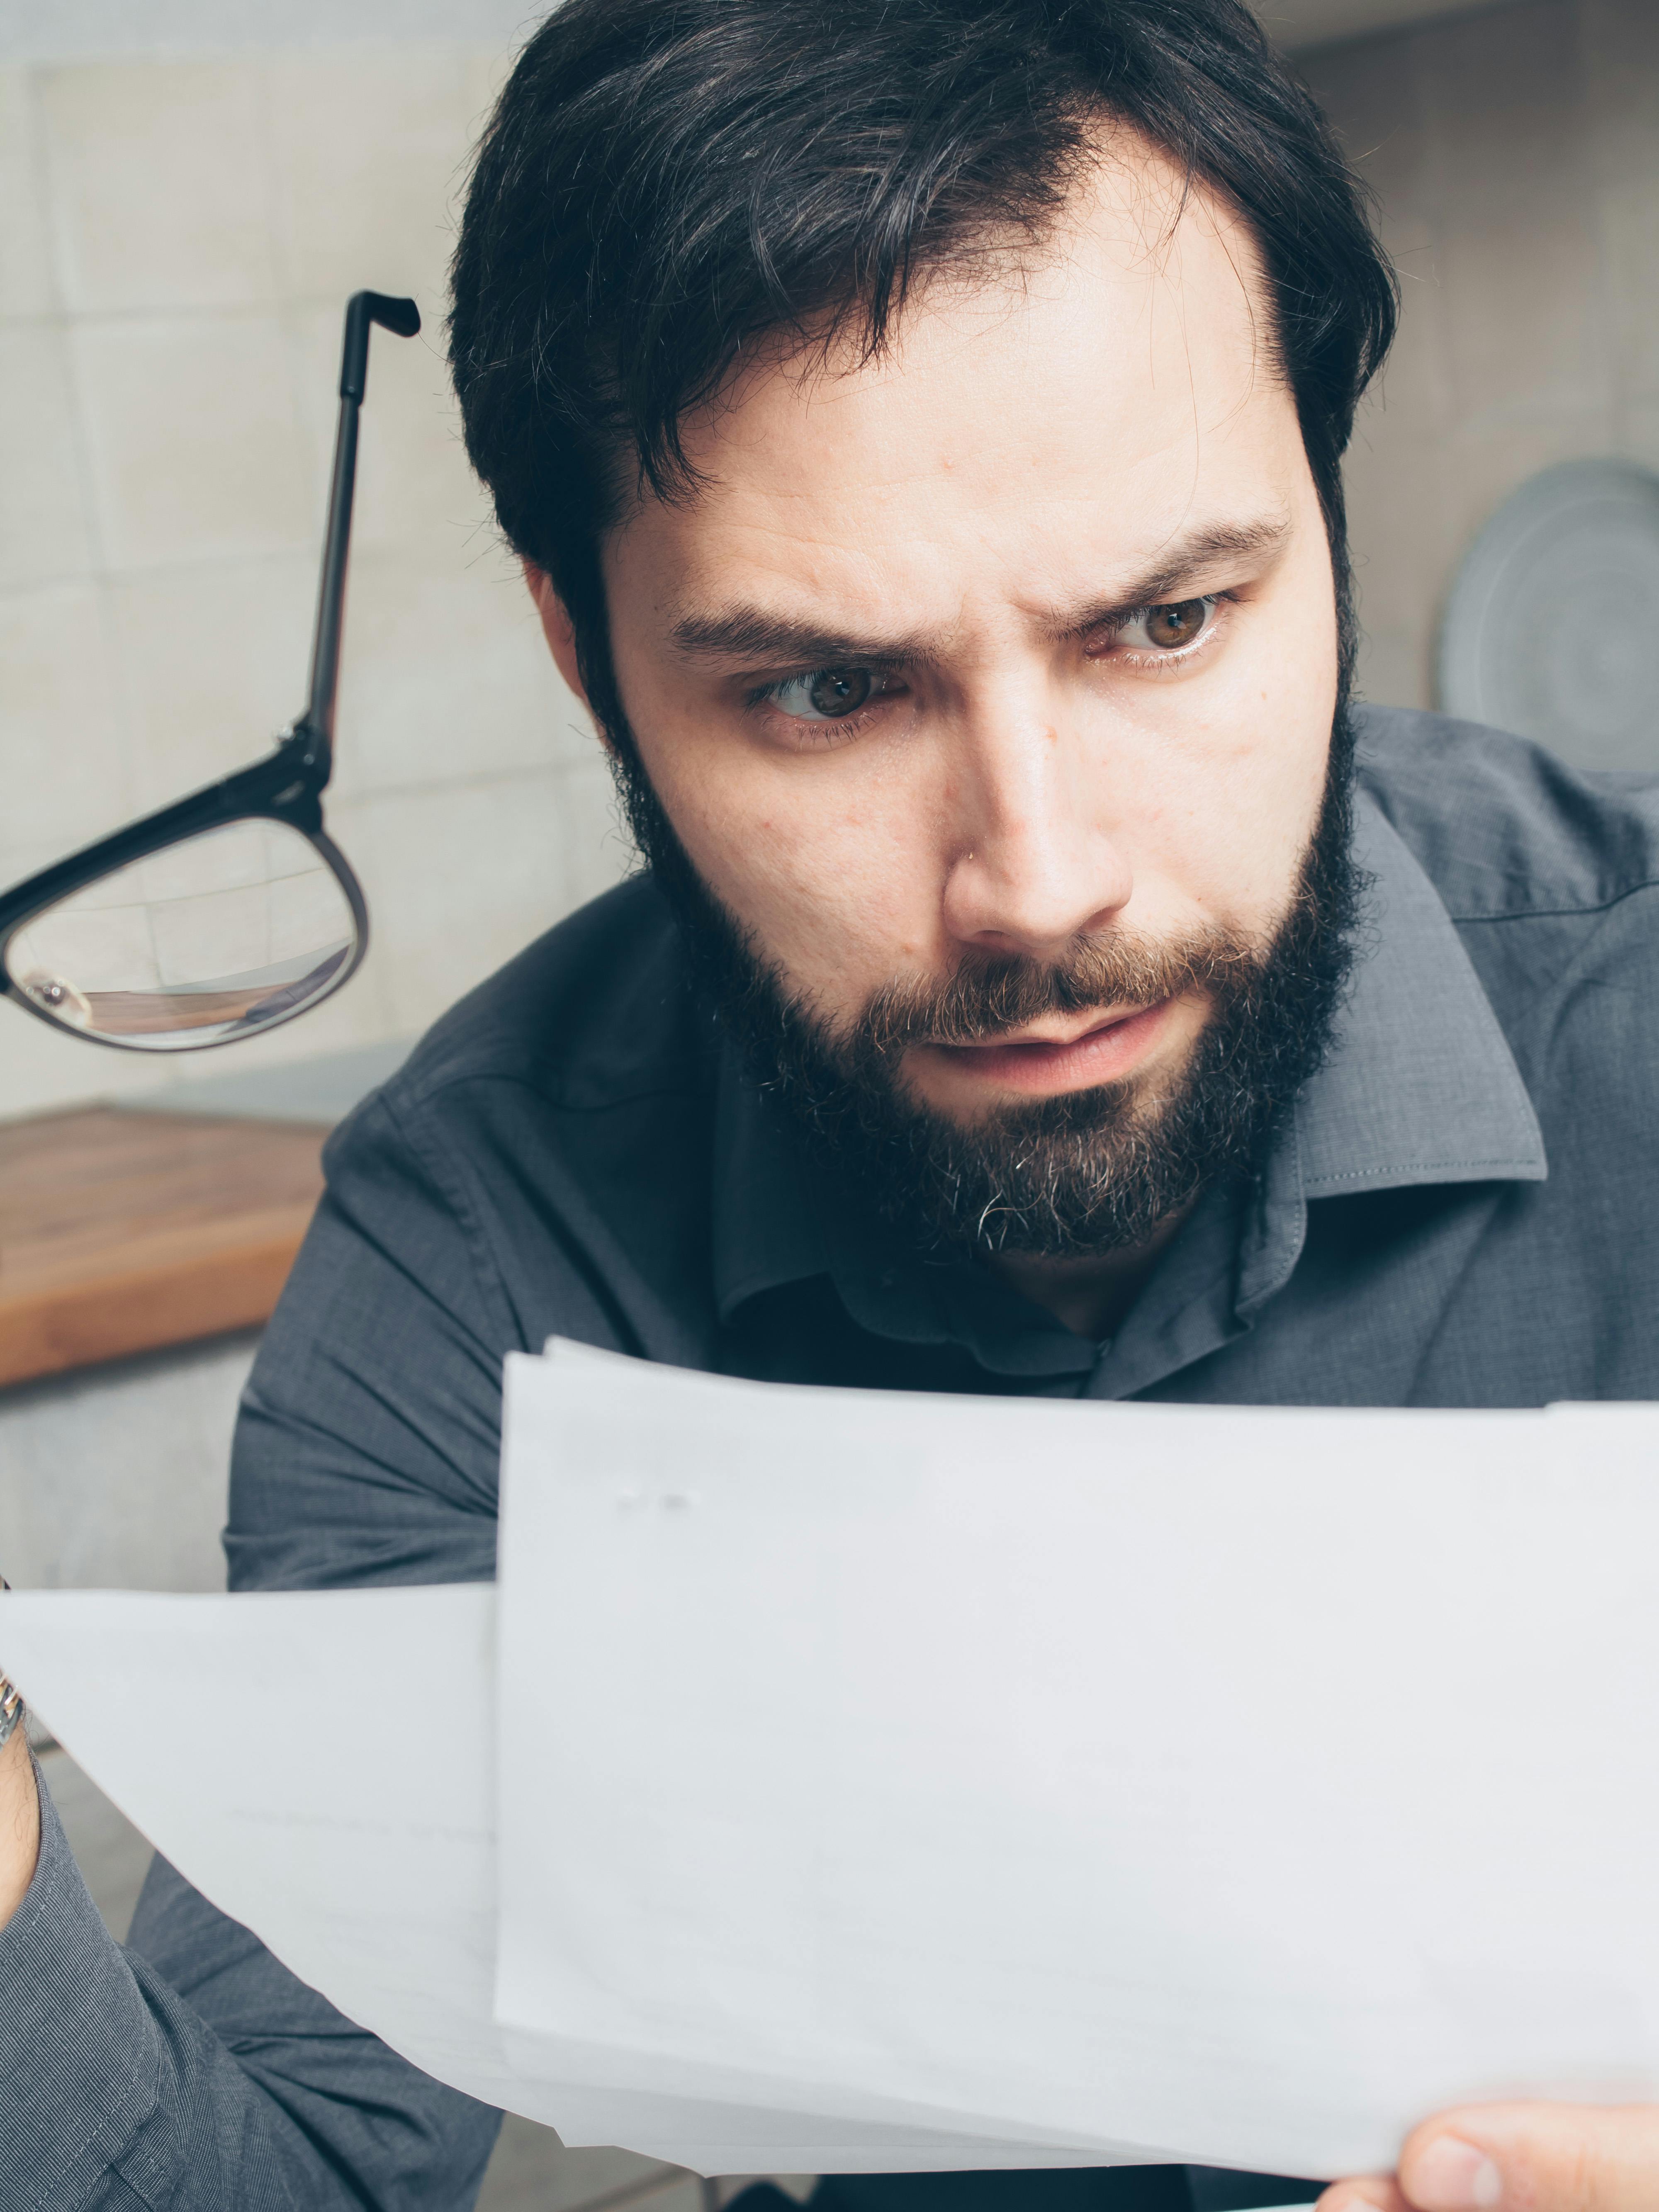
<svg viewBox="0 0 1659 2212"><path fill-rule="evenodd" d="M1347 471L1363 681L1431 706L1444 593L1491 511L1555 460L1659 469L1659 0L1511 0L1303 71L1405 288Z"/></svg>

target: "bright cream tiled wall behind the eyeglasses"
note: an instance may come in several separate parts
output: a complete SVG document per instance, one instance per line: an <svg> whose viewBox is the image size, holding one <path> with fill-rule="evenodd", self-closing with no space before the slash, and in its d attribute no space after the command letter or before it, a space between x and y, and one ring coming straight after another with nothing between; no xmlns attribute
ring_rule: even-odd
<svg viewBox="0 0 1659 2212"><path fill-rule="evenodd" d="M442 279L495 49L0 69L0 883L257 759L303 703L341 312L376 332L330 827L374 947L285 1060L422 1029L626 865L467 469ZM212 1075L0 1009L0 1117Z"/></svg>

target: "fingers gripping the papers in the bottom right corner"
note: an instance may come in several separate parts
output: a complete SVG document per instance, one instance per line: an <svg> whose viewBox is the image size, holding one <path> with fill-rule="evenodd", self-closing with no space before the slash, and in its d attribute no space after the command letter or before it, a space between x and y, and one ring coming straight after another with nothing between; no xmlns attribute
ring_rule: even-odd
<svg viewBox="0 0 1659 2212"><path fill-rule="evenodd" d="M1318 2212L1655 2208L1655 2104L1471 2104L1416 2128L1394 2174L1334 2181L1318 2199Z"/></svg>

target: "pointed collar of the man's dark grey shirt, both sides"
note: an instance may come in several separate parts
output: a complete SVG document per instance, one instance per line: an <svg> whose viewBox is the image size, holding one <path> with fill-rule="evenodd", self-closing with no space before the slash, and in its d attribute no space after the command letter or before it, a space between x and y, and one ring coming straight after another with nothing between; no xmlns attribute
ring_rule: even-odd
<svg viewBox="0 0 1659 2212"><path fill-rule="evenodd" d="M1548 1172L1515 1057L1440 894L1363 787L1354 812L1356 858L1371 878L1367 936L1336 1042L1303 1086L1265 1166L1261 1203L1250 1208L1237 1276L1241 1318L1296 1265L1310 1199L1411 1183L1542 1181ZM984 1365L1022 1374L1093 1358L1093 1347L1040 1318L998 1279L918 1263L863 1208L852 1219L849 1206L803 1155L785 1108L723 1044L714 1108L714 1296L723 1321L763 1290L832 1274L854 1318L887 1336L958 1338ZM964 1272L971 1285L958 1281ZM1159 1267L1166 1272L1175 1270ZM1009 1327L1020 1314L1031 1325L1015 1327L1015 1343Z"/></svg>

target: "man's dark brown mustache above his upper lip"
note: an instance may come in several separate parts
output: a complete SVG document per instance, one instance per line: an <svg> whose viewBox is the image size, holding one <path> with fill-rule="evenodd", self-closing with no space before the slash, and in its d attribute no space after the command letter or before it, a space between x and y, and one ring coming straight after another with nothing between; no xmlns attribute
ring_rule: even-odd
<svg viewBox="0 0 1659 2212"><path fill-rule="evenodd" d="M1265 949L1234 931L1188 938L1115 931L1077 938L1060 960L967 958L940 982L896 978L869 1000L847 1040L860 1060L894 1060L911 1044L984 1044L1048 1013L1159 1006L1188 991L1234 991Z"/></svg>

